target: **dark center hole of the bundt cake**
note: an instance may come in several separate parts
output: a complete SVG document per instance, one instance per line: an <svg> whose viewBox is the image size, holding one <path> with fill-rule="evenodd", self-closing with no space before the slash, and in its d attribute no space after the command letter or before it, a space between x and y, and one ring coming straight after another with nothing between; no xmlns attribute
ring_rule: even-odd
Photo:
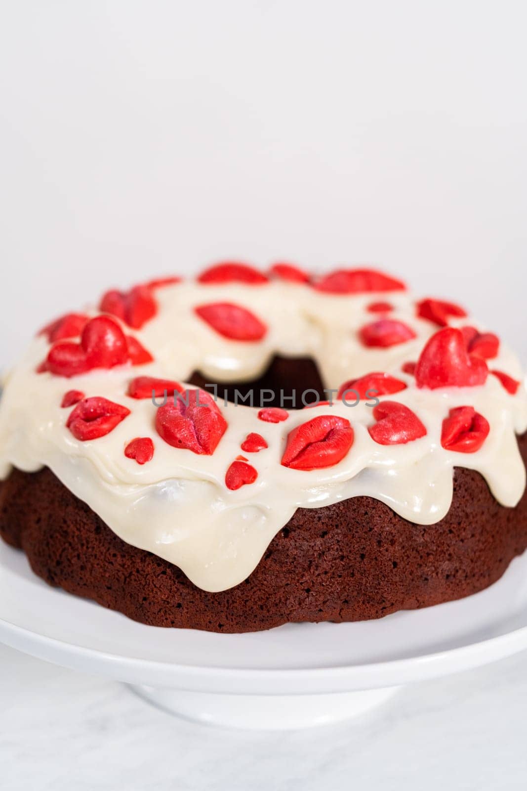
<svg viewBox="0 0 527 791"><path fill-rule="evenodd" d="M223 400L225 393L231 403L247 407L302 409L327 398L317 365L306 357L275 356L261 377L247 382L211 382L197 371L190 383L210 393L216 387L218 399Z"/></svg>

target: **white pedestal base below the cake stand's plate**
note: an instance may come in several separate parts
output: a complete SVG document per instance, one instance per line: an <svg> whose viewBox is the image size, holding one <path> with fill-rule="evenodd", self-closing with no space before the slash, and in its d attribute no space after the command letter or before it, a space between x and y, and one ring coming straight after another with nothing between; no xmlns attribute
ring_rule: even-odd
<svg viewBox="0 0 527 791"><path fill-rule="evenodd" d="M154 706L206 725L250 730L287 730L331 725L384 703L401 687L333 694L216 694L129 684Z"/></svg>

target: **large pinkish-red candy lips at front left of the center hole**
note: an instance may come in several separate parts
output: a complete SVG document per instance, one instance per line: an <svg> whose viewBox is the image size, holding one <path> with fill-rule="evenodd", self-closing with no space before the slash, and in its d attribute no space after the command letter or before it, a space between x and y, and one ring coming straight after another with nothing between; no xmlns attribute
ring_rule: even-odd
<svg viewBox="0 0 527 791"><path fill-rule="evenodd" d="M184 390L175 403L168 401L159 407L156 430L174 448L212 456L227 430L227 422L208 392Z"/></svg>

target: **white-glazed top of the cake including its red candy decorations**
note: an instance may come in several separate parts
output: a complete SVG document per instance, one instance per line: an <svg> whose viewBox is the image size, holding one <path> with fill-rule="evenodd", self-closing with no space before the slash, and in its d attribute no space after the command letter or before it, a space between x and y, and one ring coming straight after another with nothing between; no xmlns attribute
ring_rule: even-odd
<svg viewBox="0 0 527 791"><path fill-rule="evenodd" d="M186 384L312 358L327 401L226 403ZM246 402L247 403L247 402ZM298 507L368 495L418 524L454 467L507 506L525 488L516 356L450 301L366 267L318 278L239 263L111 290L44 327L6 379L0 474L47 466L127 543L203 589L243 581Z"/></svg>

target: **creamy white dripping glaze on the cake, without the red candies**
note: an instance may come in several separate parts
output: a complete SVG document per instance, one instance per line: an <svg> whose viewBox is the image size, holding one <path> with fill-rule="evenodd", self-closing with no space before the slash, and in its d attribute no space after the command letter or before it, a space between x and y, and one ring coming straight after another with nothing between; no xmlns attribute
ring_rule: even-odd
<svg viewBox="0 0 527 791"><path fill-rule="evenodd" d="M363 346L357 330L376 318L367 305L386 299L393 305L390 319L404 321L416 338L387 349ZM156 301L156 316L134 331L155 358L148 365L95 369L66 379L36 373L49 344L43 336L32 342L7 377L0 403L2 478L12 466L24 471L50 467L124 541L174 563L208 591L243 581L299 507L318 508L368 495L405 519L433 524L450 508L454 467L480 472L502 505L512 507L521 498L525 467L515 435L527 429L525 385L510 395L489 376L477 387L416 388L414 377L402 373L401 365L419 357L438 327L416 317L411 293L340 295L284 282L183 282L156 290ZM240 342L217 334L194 312L196 306L214 301L249 308L265 321L265 338ZM484 329L471 316L453 319L450 325ZM258 408L220 400L228 428L213 456L198 456L161 439L150 399L126 395L130 380L141 375L185 382L200 370L211 382L251 380L263 373L273 354L314 358L328 388L337 389L345 380L372 371L392 373L408 387L380 398L411 407L427 435L406 445L378 445L367 432L374 418L365 402L351 407L336 400L331 407L292 410L286 421L273 424L258 419ZM489 367L523 380L518 359L503 343ZM61 408L62 396L70 389L104 396L128 407L130 414L106 436L79 441L66 428L71 409ZM490 433L477 452L447 451L440 442L442 420L451 408L464 405L487 418ZM333 467L313 471L280 465L288 433L318 414L337 414L352 423L355 441L347 456ZM250 432L262 434L269 445L246 454L258 479L228 490L225 473ZM155 452L148 464L141 466L124 455L134 437L152 438Z"/></svg>

